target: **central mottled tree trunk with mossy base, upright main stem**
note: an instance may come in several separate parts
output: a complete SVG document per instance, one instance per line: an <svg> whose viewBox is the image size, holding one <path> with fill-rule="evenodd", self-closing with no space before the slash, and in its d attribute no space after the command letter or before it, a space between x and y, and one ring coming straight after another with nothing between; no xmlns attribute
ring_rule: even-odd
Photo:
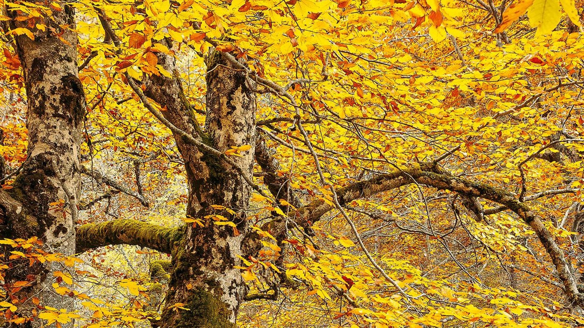
<svg viewBox="0 0 584 328"><path fill-rule="evenodd" d="M201 139L218 151L251 145L233 156L249 176L255 146L255 95L245 72L234 69L220 53L207 58L207 118ZM171 113L165 113L170 115ZM189 225L185 238L172 254L172 272L161 327L235 327L239 303L247 288L241 277L242 242L248 233L251 187L231 165L177 140L186 160L189 180L187 216L200 218L204 226ZM196 153L195 153L196 152ZM194 169L196 168L196 170ZM230 214L220 205L236 212ZM221 215L233 222L217 225ZM189 310L173 308L183 303Z"/></svg>

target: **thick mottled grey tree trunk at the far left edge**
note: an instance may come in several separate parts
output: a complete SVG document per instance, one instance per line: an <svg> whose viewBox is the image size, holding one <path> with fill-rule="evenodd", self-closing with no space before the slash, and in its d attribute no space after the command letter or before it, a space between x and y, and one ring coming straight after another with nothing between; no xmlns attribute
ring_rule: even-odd
<svg viewBox="0 0 584 328"><path fill-rule="evenodd" d="M79 145L85 95L77 72L77 34L60 27L75 29L74 11L68 5L61 6L64 9L54 11L44 21L55 32L48 28L46 32L33 30L34 40L26 35L15 38L25 76L29 148L13 189L4 195L20 203L20 208L17 205L9 211L8 231L0 238L38 236L47 252L71 255L75 250L73 224L80 190ZM9 11L8 15L25 14ZM26 25L26 21L12 22L11 28ZM60 200L64 202L51 205ZM70 309L72 299L55 294L51 287L55 265L26 265L22 270L7 270L8 284L32 277L36 280L32 287L19 292L19 299L28 299L19 303L22 316L30 315L32 295L39 296L43 305ZM39 320L29 324L40 326Z"/></svg>

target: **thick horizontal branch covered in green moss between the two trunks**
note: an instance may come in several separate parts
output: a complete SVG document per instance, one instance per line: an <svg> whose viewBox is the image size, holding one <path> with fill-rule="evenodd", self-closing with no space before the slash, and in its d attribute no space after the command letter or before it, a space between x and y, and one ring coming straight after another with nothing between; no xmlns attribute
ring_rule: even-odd
<svg viewBox="0 0 584 328"><path fill-rule="evenodd" d="M183 237L182 228L165 228L132 219L120 219L100 224L85 224L77 229L75 252L107 246L138 245L158 252L172 252L175 242Z"/></svg>

